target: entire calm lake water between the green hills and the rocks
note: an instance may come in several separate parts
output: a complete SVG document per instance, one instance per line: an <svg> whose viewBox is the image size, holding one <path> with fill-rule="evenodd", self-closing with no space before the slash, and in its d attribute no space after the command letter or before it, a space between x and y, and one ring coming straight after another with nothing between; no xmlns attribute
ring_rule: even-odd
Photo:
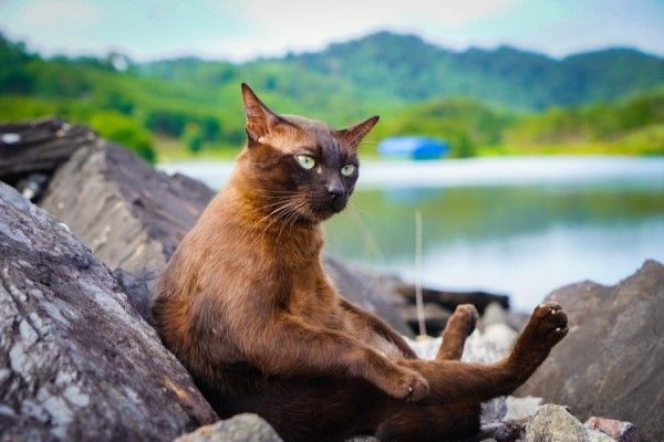
<svg viewBox="0 0 664 442"><path fill-rule="evenodd" d="M162 165L219 188L230 164ZM531 308L581 280L614 284L664 261L664 158L491 158L364 162L349 209L326 225L329 253L422 280L512 295Z"/></svg>

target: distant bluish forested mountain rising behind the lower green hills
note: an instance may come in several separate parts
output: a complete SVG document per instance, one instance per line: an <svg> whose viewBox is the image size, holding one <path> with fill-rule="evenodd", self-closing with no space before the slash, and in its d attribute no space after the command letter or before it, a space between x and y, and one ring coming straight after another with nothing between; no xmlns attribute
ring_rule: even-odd
<svg viewBox="0 0 664 442"><path fill-rule="evenodd" d="M346 80L366 94L405 101L464 95L519 109L614 99L664 81L664 60L631 49L556 60L508 46L453 52L388 32L287 62Z"/></svg>

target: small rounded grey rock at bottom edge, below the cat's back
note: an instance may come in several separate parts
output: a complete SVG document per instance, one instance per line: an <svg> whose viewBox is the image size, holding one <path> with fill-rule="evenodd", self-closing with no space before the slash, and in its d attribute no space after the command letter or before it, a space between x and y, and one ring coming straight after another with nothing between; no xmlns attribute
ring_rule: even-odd
<svg viewBox="0 0 664 442"><path fill-rule="evenodd" d="M281 438L257 414L243 413L201 427L174 442L281 442Z"/></svg>

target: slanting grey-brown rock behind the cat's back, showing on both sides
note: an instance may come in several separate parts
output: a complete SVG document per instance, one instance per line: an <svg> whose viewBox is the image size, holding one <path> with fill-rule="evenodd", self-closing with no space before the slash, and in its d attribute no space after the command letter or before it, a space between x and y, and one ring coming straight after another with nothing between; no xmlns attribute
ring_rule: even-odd
<svg viewBox="0 0 664 442"><path fill-rule="evenodd" d="M111 269L143 273L143 288L125 286L139 312L145 311L154 278L184 235L194 227L215 192L183 175L169 177L134 154L100 140L77 150L53 176L41 207L70 229ZM396 330L412 335L380 277L326 259L340 291L377 314ZM120 275L120 273L116 274Z"/></svg>

